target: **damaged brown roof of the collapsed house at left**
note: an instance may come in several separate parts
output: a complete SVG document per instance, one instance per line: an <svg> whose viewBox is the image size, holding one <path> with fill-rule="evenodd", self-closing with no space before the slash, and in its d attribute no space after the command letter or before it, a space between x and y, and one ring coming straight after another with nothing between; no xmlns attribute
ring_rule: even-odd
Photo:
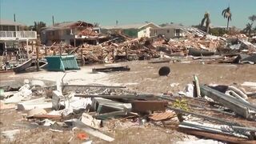
<svg viewBox="0 0 256 144"><path fill-rule="evenodd" d="M73 27L93 27L94 25L87 22L77 21L77 22L61 22L56 23L53 26L47 26L43 28L44 30L61 30L61 29L70 29Z"/></svg>

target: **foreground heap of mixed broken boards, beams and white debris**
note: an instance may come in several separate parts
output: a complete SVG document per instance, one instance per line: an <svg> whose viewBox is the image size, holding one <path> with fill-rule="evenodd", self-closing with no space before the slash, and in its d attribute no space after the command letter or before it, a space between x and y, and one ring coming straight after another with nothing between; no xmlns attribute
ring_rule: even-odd
<svg viewBox="0 0 256 144"><path fill-rule="evenodd" d="M106 133L104 129L108 127L105 123L120 118L137 118L139 126L151 122L163 122L165 125L176 122L173 124L178 126L176 130L216 140L210 143L237 143L236 140L256 142L256 106L247 101L249 96L244 90L235 86L224 86L224 89L220 89L221 86L199 85L200 78L195 75L193 78L194 84L187 85L186 92L182 92L182 95L180 92L137 94L126 90L125 86L70 85L73 89L67 89L68 84L61 84L58 90L52 91L52 98L34 98L31 91L27 93L30 85L37 85L36 89L45 86L34 80L31 83L25 82L17 92L19 97L30 95L30 99L12 103L17 103L17 110L24 113L24 110L28 110L28 122L46 126L49 130L62 131L66 126L73 130L79 129L106 142L113 142L114 135ZM254 83L245 82L242 85L254 86ZM76 87L83 89L76 91ZM216 117L216 114L222 114L222 118ZM12 132L3 134L7 134L8 138L14 137ZM74 135L70 142L73 138Z"/></svg>

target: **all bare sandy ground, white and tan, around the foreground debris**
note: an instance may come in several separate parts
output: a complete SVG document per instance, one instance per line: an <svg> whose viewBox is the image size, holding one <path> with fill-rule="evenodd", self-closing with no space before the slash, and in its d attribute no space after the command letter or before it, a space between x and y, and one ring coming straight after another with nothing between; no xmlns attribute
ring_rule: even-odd
<svg viewBox="0 0 256 144"><path fill-rule="evenodd" d="M92 74L91 69L97 66L84 66L81 70L67 71L64 82L83 85L92 83L108 86L122 85L127 86L130 90L149 94L177 93L184 90L186 84L193 81L193 74L198 75L202 84L214 83L239 86L242 82L256 82L255 65L203 64L202 62L149 64L147 61L121 62L118 65L128 65L131 70L109 74ZM170 66L171 73L168 77L158 76L158 69L161 66ZM40 71L26 74L1 74L0 78L1 86L15 86L22 85L25 78L56 82L61 80L63 75L63 72ZM54 132L43 127L19 126L20 123L30 123L23 118L23 113L25 112L17 110L0 111L1 131L21 130L19 134L15 135L14 141L9 141L1 134L1 143L67 143L72 137L71 130ZM111 121L110 124L115 125L116 122ZM129 125L125 126L126 128L114 126L111 130L104 129L102 131L115 138L113 143L175 143L182 141L184 138L189 138L188 135L172 128L153 125L139 126L136 122L134 124L135 126ZM126 125L126 122L123 122L122 125ZM79 130L75 130L74 134L79 132ZM106 143L93 136L90 136L90 139L94 143ZM71 143L81 143L81 141L74 138Z"/></svg>

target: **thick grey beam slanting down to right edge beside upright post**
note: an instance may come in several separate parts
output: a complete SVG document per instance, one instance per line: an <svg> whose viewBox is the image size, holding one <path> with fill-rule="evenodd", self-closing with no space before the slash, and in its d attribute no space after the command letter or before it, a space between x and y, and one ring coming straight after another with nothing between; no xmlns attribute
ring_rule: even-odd
<svg viewBox="0 0 256 144"><path fill-rule="evenodd" d="M252 119L253 116L249 113L248 109L256 110L256 107L250 105L250 103L242 102L237 98L230 97L218 90L211 89L209 86L200 86L200 90L202 95L214 99L215 102L221 103L223 106L233 110L236 114L239 114L244 118Z"/></svg>

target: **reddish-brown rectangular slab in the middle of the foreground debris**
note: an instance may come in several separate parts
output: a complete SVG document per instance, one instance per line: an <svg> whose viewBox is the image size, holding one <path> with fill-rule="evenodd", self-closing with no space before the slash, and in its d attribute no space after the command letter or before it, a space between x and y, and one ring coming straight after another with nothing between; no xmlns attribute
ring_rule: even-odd
<svg viewBox="0 0 256 144"><path fill-rule="evenodd" d="M147 111L165 111L168 105L167 101L133 101L131 102L134 112Z"/></svg>

